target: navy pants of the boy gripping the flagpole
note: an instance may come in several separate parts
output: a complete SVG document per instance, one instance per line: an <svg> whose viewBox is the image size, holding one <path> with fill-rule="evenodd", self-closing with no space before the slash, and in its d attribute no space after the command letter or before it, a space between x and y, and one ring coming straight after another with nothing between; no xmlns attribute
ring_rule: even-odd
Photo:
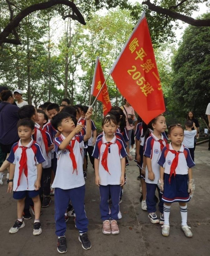
<svg viewBox="0 0 210 256"><path fill-rule="evenodd" d="M85 185L72 188L55 188L55 234L64 236L66 232L65 212L71 200L76 214L76 228L80 233L87 232L88 219L85 212Z"/></svg>

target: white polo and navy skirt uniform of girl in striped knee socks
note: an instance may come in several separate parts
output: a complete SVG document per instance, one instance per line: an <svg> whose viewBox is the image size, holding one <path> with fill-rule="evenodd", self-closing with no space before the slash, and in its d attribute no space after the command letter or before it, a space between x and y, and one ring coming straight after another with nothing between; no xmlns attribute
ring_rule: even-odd
<svg viewBox="0 0 210 256"><path fill-rule="evenodd" d="M158 164L164 168L164 191L162 201L167 203L173 202L189 202L190 196L187 192L188 181L188 169L195 166L190 156L190 151L184 145L181 145L178 155L178 165L176 167L176 175L172 174L170 178L170 170L172 161L175 158L175 154L170 150L173 150L171 143L168 147L164 147Z"/></svg>

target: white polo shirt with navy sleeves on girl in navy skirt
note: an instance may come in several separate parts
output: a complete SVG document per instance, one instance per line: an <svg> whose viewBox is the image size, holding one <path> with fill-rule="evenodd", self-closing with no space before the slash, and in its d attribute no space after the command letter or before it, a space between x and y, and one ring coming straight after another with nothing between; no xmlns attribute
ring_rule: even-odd
<svg viewBox="0 0 210 256"><path fill-rule="evenodd" d="M174 150L171 146L171 143L169 144L169 149ZM176 174L188 174L188 169L195 166L195 163L192 161L189 149L186 148L183 144L181 145L179 152L181 153L179 154L178 165L175 170ZM164 173L170 174L171 163L174 158L175 154L164 147L158 160L158 164L165 168Z"/></svg>

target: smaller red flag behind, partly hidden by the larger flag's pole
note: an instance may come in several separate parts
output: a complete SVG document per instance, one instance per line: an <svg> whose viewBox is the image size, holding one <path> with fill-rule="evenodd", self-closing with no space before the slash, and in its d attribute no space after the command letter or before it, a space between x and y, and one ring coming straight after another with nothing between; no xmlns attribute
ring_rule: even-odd
<svg viewBox="0 0 210 256"><path fill-rule="evenodd" d="M103 71L101 68L101 64L99 58L96 59L96 66L92 80L91 94L93 96L97 96L99 90L102 88L103 83L105 82ZM111 102L109 99L109 93L106 83L104 84L101 93L98 95L98 100L100 100L103 104L103 115L105 116L111 109Z"/></svg>

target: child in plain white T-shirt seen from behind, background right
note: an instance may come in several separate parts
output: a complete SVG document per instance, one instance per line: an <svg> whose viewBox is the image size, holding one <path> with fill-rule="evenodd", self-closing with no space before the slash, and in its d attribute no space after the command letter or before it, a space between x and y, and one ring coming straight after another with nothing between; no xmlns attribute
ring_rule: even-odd
<svg viewBox="0 0 210 256"><path fill-rule="evenodd" d="M192 130L192 127L195 130ZM185 122L185 128L183 145L189 149L192 161L194 162L194 138L195 136L197 137L197 128L192 120Z"/></svg>

